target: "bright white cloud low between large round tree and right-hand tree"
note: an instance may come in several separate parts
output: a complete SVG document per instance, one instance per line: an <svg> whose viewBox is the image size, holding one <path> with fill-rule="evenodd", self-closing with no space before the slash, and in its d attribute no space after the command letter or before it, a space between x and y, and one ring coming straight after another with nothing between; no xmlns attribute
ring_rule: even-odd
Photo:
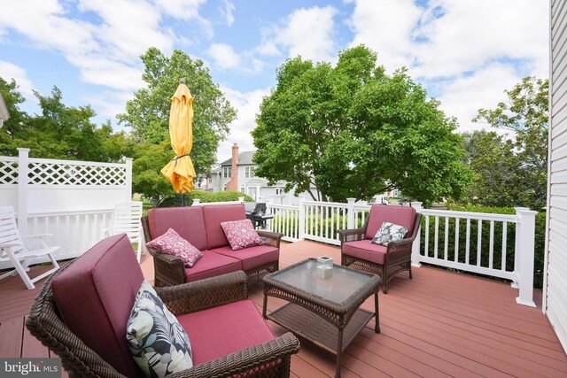
<svg viewBox="0 0 567 378"><path fill-rule="evenodd" d="M494 109L498 103L505 101L507 96L504 89L512 89L520 80L521 77L512 66L488 66L444 85L443 94L438 98L440 108L447 116L458 119L459 132L489 128L471 120L477 115L478 109Z"/></svg>

